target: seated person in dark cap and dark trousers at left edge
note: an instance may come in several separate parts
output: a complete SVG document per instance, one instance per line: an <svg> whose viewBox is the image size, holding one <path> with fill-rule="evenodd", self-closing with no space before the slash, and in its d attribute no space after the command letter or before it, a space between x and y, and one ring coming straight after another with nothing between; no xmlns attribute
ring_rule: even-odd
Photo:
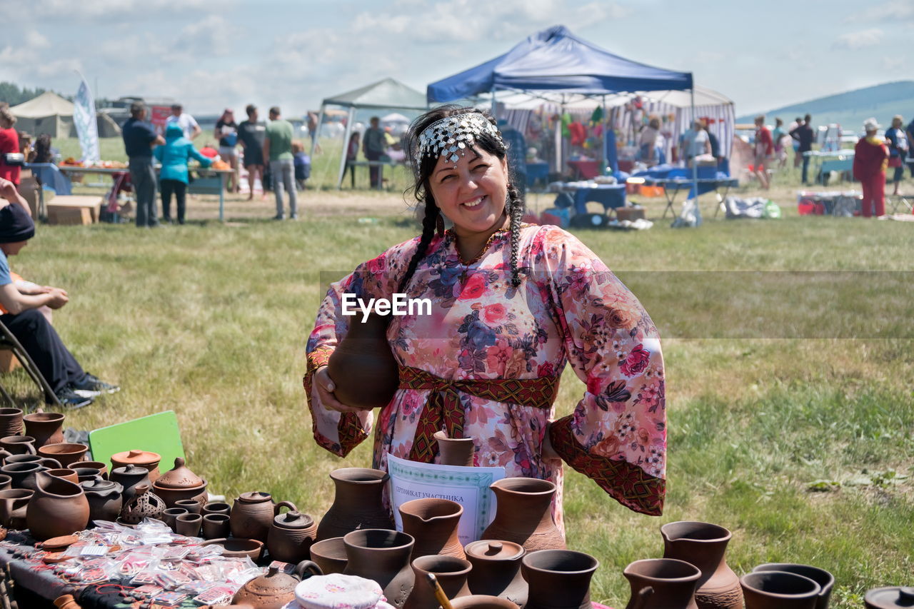
<svg viewBox="0 0 914 609"><path fill-rule="evenodd" d="M19 253L35 235L35 223L28 204L16 186L0 179L0 305L6 313L0 322L16 336L61 405L67 408L88 406L101 393L113 393L119 387L101 381L80 367L64 347L57 331L40 309L58 309L69 301L59 288L41 287L38 294L23 294L10 276L7 256Z"/></svg>

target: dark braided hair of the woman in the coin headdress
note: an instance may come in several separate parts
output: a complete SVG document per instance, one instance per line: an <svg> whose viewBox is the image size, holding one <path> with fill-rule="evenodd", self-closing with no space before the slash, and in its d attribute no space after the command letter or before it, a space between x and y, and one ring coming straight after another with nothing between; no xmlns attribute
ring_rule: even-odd
<svg viewBox="0 0 914 609"><path fill-rule="evenodd" d="M431 123L435 123L442 118L447 118L455 114L464 114L467 112L482 114L489 123L492 123L497 128L492 115L484 110L455 105L440 106L430 112L422 114L409 125L409 131L405 138L406 145L404 146L407 158L412 159L417 150L419 150L419 134L425 131ZM505 163L508 162L505 144L502 144L490 134L482 133L477 135L473 147L479 147L490 155L496 156L499 160L505 160ZM413 254L412 260L409 261L409 267L407 268L406 274L403 276L403 279L400 280L400 292L403 292L406 289L409 280L412 279L413 273L416 272L416 267L419 266L422 258L425 257L431 239L435 235L439 219L441 219L441 209L435 205L435 199L431 196L431 188L429 187L429 176L431 176L431 172L437 164L438 157L423 155L419 162L419 166L413 166L414 183L407 192L411 191L412 195L416 198L416 201L425 205L425 213L422 217L422 235L419 240L419 246L416 248L416 253ZM508 198L507 201L505 201L505 207L511 218L511 284L518 287L520 285L520 272L517 269L517 249L520 245L521 219L524 217L524 199L520 197L520 192L511 183L512 175L512 168L509 165L507 185Z"/></svg>

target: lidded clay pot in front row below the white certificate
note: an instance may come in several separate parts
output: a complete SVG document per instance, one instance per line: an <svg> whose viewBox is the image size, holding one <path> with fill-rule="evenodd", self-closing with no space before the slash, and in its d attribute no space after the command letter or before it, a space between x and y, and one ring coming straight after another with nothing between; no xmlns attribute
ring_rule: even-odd
<svg viewBox="0 0 914 609"><path fill-rule="evenodd" d="M470 592L526 604L526 581L520 573L524 546L512 541L479 540L466 544L466 559L473 564L467 578Z"/></svg>

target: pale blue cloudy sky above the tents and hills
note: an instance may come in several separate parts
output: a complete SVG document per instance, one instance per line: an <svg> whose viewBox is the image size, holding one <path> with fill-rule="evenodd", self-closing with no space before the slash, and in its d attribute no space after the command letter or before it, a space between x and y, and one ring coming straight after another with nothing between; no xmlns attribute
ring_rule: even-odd
<svg viewBox="0 0 914 609"><path fill-rule="evenodd" d="M29 0L14 23L0 80L72 94L79 69L97 96L201 114L301 114L388 76L425 91L558 24L691 70L738 114L914 76L914 0Z"/></svg>

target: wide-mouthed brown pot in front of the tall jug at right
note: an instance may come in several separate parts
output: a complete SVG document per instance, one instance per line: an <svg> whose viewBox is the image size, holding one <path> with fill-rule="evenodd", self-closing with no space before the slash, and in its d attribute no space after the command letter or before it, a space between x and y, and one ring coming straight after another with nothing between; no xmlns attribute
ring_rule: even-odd
<svg viewBox="0 0 914 609"><path fill-rule="evenodd" d="M646 559L634 561L622 572L632 587L632 598L625 609L697 609L695 589L701 571L694 565L675 559ZM654 593L644 599L644 588Z"/></svg>

